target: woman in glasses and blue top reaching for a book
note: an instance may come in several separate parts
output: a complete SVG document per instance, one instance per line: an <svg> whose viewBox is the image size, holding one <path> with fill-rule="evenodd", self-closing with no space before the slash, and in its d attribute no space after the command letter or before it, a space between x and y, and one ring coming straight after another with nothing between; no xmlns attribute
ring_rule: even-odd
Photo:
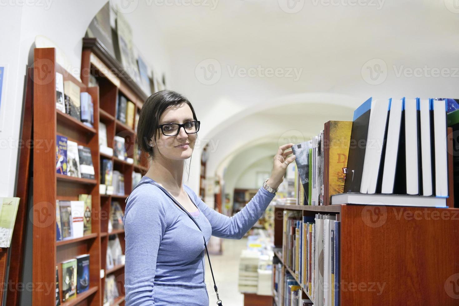
<svg viewBox="0 0 459 306"><path fill-rule="evenodd" d="M274 156L269 187L261 187L241 211L228 217L209 208L182 182L185 160L193 153L198 130L190 101L172 90L151 95L140 111L138 144L151 158L151 167L140 183L151 181L166 189L195 218L202 232L157 186L135 188L124 215L126 306L209 305L203 236L206 244L211 235L241 239L273 199L274 193L267 189L279 186L287 165L295 159L293 155L287 158L291 150L285 151L293 144L281 146Z"/></svg>

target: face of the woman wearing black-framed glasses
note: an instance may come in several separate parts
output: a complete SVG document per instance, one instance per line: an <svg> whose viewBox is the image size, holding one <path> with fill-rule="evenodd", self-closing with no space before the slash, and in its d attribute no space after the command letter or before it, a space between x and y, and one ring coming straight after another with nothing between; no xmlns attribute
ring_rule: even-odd
<svg viewBox="0 0 459 306"><path fill-rule="evenodd" d="M190 106L186 103L182 103L177 106L168 107L159 118L158 125L166 123L182 124L190 121L195 121ZM196 135L197 133L186 134L185 129L180 128L179 134L175 136L166 136L162 134L161 128L158 128L156 132L156 144L153 137L151 137L151 143L154 145L153 150L159 150L165 158L184 160L190 158L191 153L193 153ZM183 144L188 145L180 146ZM155 155L157 155L157 152L155 152Z"/></svg>

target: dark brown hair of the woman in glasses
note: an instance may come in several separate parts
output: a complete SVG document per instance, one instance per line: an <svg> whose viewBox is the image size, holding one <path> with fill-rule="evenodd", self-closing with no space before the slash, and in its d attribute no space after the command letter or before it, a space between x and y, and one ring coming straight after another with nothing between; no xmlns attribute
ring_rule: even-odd
<svg viewBox="0 0 459 306"><path fill-rule="evenodd" d="M151 137L154 136L156 144L156 131L159 128L159 118L162 113L170 106L178 106L182 103L190 106L193 113L194 120L197 120L195 110L190 101L184 95L175 92L174 90L161 90L149 96L139 114L139 123L137 124L137 144L140 150L146 152L151 159L155 156L153 154L153 147L149 145ZM197 137L197 134L196 134ZM161 154L161 152L160 152Z"/></svg>

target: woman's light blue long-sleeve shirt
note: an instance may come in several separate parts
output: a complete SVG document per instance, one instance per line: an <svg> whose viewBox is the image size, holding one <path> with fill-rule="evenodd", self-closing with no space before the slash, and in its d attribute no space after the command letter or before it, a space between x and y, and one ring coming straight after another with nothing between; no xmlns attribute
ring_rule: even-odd
<svg viewBox="0 0 459 306"><path fill-rule="evenodd" d="M140 182L148 180L155 182L146 176ZM123 218L126 306L209 305L202 236L206 244L211 235L241 239L274 198L261 187L241 211L228 217L207 206L190 187L183 186L199 210L194 218L202 232L155 185L143 184L129 196Z"/></svg>

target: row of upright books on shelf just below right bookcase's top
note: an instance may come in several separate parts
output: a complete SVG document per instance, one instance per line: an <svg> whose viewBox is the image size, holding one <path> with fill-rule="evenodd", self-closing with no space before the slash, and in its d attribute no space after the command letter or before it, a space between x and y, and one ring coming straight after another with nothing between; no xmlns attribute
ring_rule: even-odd
<svg viewBox="0 0 459 306"><path fill-rule="evenodd" d="M315 305L339 305L339 215L284 211L282 256ZM323 301L323 302L322 302Z"/></svg>

